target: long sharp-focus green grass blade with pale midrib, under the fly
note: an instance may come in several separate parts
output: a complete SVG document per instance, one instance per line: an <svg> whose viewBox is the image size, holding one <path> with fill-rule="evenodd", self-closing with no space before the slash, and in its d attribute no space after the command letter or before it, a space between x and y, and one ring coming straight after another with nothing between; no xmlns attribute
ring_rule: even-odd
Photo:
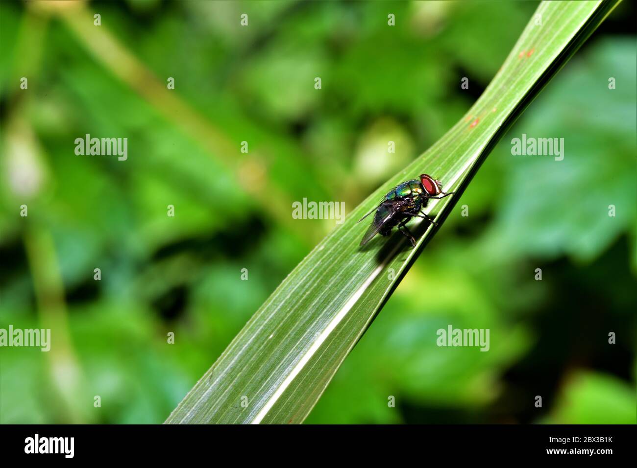
<svg viewBox="0 0 637 468"><path fill-rule="evenodd" d="M468 113L314 248L166 422L303 422L498 139L617 3L541 3ZM359 248L368 223L357 220L390 187L420 173L436 176L443 190L455 191L427 206L438 227L412 221L419 239L413 249L399 233L389 239L376 236Z"/></svg>

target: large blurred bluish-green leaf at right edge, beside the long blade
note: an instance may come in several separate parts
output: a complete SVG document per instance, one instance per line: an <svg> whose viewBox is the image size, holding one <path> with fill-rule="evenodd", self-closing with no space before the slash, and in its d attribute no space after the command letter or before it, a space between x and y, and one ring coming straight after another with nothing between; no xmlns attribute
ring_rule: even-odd
<svg viewBox="0 0 637 468"><path fill-rule="evenodd" d="M590 262L624 232L636 236L637 83L630 67L616 65L631 60L631 39L598 43L589 57L573 60L568 73L534 103L536 110L510 132L512 138L523 133L563 138L563 160L513 156L510 141L503 141L511 175L504 181L491 230L492 241L507 255L569 255ZM610 75L620 83L617 89L608 89ZM581 94L575 89L589 91ZM613 112L600 111L606 108ZM566 132L555 133L559 128ZM609 216L610 205L615 206L615 216Z"/></svg>

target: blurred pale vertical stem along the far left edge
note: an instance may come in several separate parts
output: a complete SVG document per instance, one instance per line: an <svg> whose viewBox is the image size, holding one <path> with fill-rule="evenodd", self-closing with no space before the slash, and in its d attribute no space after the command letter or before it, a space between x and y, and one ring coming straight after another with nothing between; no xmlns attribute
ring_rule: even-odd
<svg viewBox="0 0 637 468"><path fill-rule="evenodd" d="M38 302L40 326L51 330L50 351L46 355L50 377L58 393L57 417L66 423L83 423L89 421L89 412L82 408L90 408L91 401L87 401L86 405L81 404L82 371L69 334L64 285L54 241L45 227L37 221L32 222L33 218L41 218L34 209L38 206L35 200L44 184L42 174L45 171L41 146L25 118L34 93L20 90L18 86L20 78L24 76L29 80L29 90L38 88L38 81L34 77L38 76L47 31L47 16L27 10L18 32L17 52L11 70L15 92L11 96L5 138L13 143L8 146L10 154L4 153L3 156L8 166L20 164L24 169L25 165L31 165L29 181L11 180L9 187L15 199L20 204L28 202L27 206L31 209L31 217L24 218L23 241Z"/></svg>

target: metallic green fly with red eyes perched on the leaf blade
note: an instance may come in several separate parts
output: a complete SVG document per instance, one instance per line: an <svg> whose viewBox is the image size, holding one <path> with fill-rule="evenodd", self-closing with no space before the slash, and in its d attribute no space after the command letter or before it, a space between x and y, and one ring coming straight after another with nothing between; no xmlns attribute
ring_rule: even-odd
<svg viewBox="0 0 637 468"><path fill-rule="evenodd" d="M425 215L422 209L427 206L427 201L430 198L440 199L453 193L445 193L441 187L440 181L427 174L422 174L420 179L405 181L389 190L378 206L359 220L359 222L362 221L375 211L374 219L362 238L361 246L368 243L376 234L389 236L394 226L397 226L398 230L407 236L412 245L415 246L416 241L405 224L413 216L424 218L433 223L433 220ZM443 195L438 196L440 194Z"/></svg>

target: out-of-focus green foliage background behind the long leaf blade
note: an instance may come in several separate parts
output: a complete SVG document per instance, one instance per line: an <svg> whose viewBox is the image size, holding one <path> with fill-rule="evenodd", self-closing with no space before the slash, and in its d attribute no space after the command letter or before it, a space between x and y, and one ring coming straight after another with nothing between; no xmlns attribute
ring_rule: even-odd
<svg viewBox="0 0 637 468"><path fill-rule="evenodd" d="M462 116L536 6L1 3L0 327L51 327L54 350L0 350L0 422L163 422L334 227L291 202L354 208ZM634 16L503 138L307 422L636 422ZM86 133L129 159L76 156ZM511 155L523 133L564 160ZM489 328L490 351L438 348L448 324Z"/></svg>

